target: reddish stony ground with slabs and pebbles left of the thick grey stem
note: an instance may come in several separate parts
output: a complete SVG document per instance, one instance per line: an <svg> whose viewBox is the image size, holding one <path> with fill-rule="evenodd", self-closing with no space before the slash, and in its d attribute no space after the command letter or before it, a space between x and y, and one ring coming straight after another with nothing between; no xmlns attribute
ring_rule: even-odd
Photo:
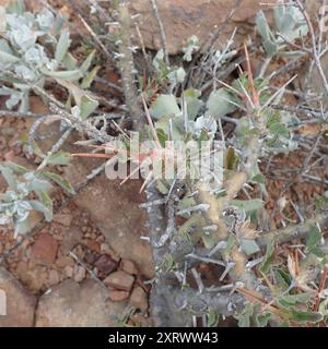
<svg viewBox="0 0 328 349"><path fill-rule="evenodd" d="M37 99L33 110L45 111ZM0 122L0 160L34 167L37 159L26 159L19 145L31 121ZM56 125L50 129L56 137ZM44 148L50 144L51 137L40 142ZM57 170L77 186L97 165L77 159ZM153 268L148 242L140 239L147 233L140 185L120 186L101 174L73 201L55 189L55 207L65 207L55 209L54 221L40 225L31 237L15 241L12 231L1 227L0 256L7 258L0 267L0 289L7 293L8 316L0 317L0 326L151 324L149 286L143 281L153 277ZM34 220L36 225L40 217Z"/></svg>

